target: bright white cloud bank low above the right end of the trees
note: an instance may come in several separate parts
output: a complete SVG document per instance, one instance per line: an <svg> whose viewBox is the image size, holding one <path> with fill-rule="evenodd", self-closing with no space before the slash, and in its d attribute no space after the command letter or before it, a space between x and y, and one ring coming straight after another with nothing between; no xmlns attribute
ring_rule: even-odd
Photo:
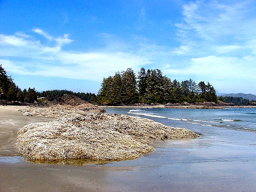
<svg viewBox="0 0 256 192"><path fill-rule="evenodd" d="M206 56L192 58L188 68L166 66L163 73L181 78L186 76L196 82L209 81L226 92L247 90L247 92L252 93L256 89L254 83L256 82L256 68L251 67L254 66L255 60L255 56L242 58Z"/></svg>

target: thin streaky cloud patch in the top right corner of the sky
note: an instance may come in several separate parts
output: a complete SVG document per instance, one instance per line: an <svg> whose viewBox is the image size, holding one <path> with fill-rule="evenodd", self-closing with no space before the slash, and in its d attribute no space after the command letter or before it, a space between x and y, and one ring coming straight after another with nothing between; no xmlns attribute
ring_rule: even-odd
<svg viewBox="0 0 256 192"><path fill-rule="evenodd" d="M252 3L252 4L250 4ZM196 1L183 6L184 21L176 24L182 45L240 44L254 38L256 18L253 1Z"/></svg>

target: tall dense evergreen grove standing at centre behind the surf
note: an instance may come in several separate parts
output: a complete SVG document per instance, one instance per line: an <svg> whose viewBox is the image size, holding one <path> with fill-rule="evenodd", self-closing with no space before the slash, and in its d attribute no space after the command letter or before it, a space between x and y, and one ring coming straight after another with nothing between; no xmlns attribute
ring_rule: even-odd
<svg viewBox="0 0 256 192"><path fill-rule="evenodd" d="M140 69L138 76L131 68L116 72L114 76L104 78L97 95L97 102L109 105L129 105L136 103L196 103L217 102L214 87L203 81L178 82L163 76L161 70Z"/></svg>

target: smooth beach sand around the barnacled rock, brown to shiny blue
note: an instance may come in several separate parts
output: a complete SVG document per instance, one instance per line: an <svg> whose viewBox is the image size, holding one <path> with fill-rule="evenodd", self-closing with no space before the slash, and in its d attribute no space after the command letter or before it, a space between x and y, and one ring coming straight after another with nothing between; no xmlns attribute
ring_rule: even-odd
<svg viewBox="0 0 256 192"><path fill-rule="evenodd" d="M157 142L155 151L136 160L85 166L27 162L14 148L16 133L52 118L22 116L18 108L0 106L1 192L256 191L255 145L206 135Z"/></svg>

